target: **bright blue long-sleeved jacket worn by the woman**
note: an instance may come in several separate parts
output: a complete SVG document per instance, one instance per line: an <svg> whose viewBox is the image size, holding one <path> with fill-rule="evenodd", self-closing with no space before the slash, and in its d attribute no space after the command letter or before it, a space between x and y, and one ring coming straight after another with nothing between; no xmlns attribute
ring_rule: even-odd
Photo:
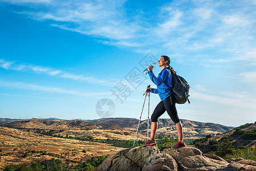
<svg viewBox="0 0 256 171"><path fill-rule="evenodd" d="M166 67L168 68L168 67ZM159 75L154 75L153 71L148 72L149 78L152 80L153 83L156 84L157 88L151 88L152 93L158 93L159 97L162 101L166 99L166 97L170 96L172 92L170 91L169 87L172 87L172 74L170 73L169 69L162 69ZM166 84L168 86L166 86Z"/></svg>

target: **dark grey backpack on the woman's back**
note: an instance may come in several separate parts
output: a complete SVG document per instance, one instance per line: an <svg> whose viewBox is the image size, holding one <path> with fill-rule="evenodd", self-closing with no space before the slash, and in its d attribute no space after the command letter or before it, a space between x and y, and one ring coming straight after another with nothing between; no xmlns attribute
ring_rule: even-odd
<svg viewBox="0 0 256 171"><path fill-rule="evenodd" d="M172 71L170 71L172 74L172 87L168 86L165 82L165 85L170 88L172 91L177 104L184 104L188 100L188 103L190 103L188 97L189 97L189 84L186 82L184 78L181 76L174 74Z"/></svg>

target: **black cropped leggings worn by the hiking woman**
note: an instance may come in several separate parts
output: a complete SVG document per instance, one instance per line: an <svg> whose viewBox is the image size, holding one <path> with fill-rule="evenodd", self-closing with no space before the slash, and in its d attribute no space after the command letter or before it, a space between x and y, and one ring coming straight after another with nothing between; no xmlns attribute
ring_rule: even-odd
<svg viewBox="0 0 256 171"><path fill-rule="evenodd" d="M172 119L172 121L177 124L180 119L178 119L178 113L175 107L175 103L176 99L173 94L164 99L164 101L160 101L160 103L157 104L153 114L151 115L151 121L157 122L157 119L159 119L159 117L164 114L165 111L167 111L170 119Z"/></svg>

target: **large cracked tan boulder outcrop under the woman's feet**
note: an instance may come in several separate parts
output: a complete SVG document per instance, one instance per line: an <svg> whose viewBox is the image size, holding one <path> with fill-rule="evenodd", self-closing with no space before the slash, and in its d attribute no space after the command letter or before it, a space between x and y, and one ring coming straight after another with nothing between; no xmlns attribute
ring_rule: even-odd
<svg viewBox="0 0 256 171"><path fill-rule="evenodd" d="M165 146L160 152L157 145L148 145L119 150L95 170L256 170L256 162L243 158L226 161L214 154L203 154L194 146Z"/></svg>

